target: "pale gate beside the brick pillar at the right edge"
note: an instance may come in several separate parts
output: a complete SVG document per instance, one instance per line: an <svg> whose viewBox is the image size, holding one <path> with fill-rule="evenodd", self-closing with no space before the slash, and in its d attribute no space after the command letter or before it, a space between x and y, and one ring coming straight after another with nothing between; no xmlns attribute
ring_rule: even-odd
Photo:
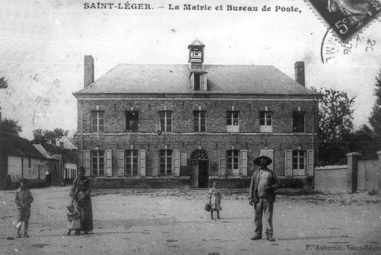
<svg viewBox="0 0 381 255"><path fill-rule="evenodd" d="M357 190L379 190L379 161L359 161L357 172Z"/></svg>

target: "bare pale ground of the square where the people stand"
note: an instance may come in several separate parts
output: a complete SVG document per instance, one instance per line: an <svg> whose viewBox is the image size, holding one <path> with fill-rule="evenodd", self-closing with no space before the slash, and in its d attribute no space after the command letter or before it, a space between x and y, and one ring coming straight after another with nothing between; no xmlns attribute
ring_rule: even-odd
<svg viewBox="0 0 381 255"><path fill-rule="evenodd" d="M221 220L206 189L93 190L93 233L67 237L68 187L32 189L30 238L16 238L14 192L0 192L1 255L381 254L380 194L280 190L271 243L250 240L247 190L222 190Z"/></svg>

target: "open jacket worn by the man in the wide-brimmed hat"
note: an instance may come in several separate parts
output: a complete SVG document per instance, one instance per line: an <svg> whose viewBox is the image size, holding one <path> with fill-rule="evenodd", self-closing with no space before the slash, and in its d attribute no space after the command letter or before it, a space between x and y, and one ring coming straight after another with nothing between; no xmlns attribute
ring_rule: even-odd
<svg viewBox="0 0 381 255"><path fill-rule="evenodd" d="M274 203L275 190L280 187L280 181L273 170L270 170L267 167L265 169L270 173L270 180L269 180L270 188L268 190L269 200ZM253 177L251 177L250 189L249 189L249 199L252 199L254 203L258 201L258 191L257 191L258 183L259 183L259 170L256 170L253 173Z"/></svg>

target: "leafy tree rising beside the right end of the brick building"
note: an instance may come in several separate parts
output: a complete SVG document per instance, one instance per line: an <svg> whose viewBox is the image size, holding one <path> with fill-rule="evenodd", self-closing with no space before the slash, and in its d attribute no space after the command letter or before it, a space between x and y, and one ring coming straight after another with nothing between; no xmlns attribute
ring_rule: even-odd
<svg viewBox="0 0 381 255"><path fill-rule="evenodd" d="M353 104L344 91L323 89L319 100L319 159L318 164L342 164L348 153L347 138L353 128Z"/></svg>

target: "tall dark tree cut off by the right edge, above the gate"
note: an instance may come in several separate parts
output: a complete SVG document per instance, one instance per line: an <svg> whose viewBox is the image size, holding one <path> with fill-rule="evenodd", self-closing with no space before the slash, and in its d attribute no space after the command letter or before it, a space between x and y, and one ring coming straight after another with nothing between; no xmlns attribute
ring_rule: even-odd
<svg viewBox="0 0 381 255"><path fill-rule="evenodd" d="M376 88L373 90L373 95L375 95L376 102L373 105L371 116L369 117L369 123L377 137L381 140L381 70L378 76L376 76Z"/></svg>

